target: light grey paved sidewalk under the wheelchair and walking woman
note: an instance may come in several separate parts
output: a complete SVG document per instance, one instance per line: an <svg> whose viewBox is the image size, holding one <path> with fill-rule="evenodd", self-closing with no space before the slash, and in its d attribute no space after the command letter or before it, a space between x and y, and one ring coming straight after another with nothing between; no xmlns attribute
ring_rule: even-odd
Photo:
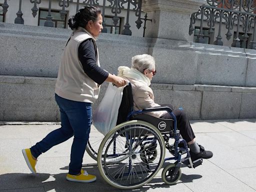
<svg viewBox="0 0 256 192"><path fill-rule="evenodd" d="M204 159L195 169L182 167L181 178L175 185L163 183L160 170L150 183L132 191L256 191L256 119L191 121L191 125L197 142L212 150L213 157ZM58 127L53 123L0 123L0 191L122 191L102 179L96 161L87 153L83 167L95 174L97 180L65 180L72 139L42 154L36 165L38 173L31 174L21 149ZM95 134L92 130L91 136Z"/></svg>

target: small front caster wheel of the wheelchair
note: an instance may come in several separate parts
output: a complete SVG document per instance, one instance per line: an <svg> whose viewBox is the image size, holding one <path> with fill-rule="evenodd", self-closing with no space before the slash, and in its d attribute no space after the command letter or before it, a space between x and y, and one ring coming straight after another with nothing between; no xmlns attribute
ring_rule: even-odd
<svg viewBox="0 0 256 192"><path fill-rule="evenodd" d="M177 169L177 172L175 173L175 169ZM166 184L175 184L179 178L181 177L181 169L179 167L176 167L174 163L168 164L167 166L164 167L162 170L162 180Z"/></svg>

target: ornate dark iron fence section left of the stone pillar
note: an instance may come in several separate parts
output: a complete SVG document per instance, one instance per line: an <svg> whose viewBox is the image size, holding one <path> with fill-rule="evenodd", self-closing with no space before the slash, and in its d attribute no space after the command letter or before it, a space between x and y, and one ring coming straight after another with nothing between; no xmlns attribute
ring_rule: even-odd
<svg viewBox="0 0 256 192"><path fill-rule="evenodd" d="M30 3L33 4L33 7L31 8L32 10L32 15L33 17L35 17L35 15L38 12L38 8L37 5L41 3L41 0L29 0ZM61 7L62 9L59 11L60 16L62 19L65 18L66 14L67 14L67 9L70 5L70 3L73 2L73 0L56 0L58 1L58 5L59 7ZM82 2L79 2L79 0L76 0L76 11L78 11L79 6L84 6L84 5L93 5L93 6L99 6L99 0L83 0ZM101 0L102 1L102 0ZM135 21L136 23L136 27L139 29L141 27L141 24L143 23L142 20L144 20L144 27L143 27L143 36L144 36L144 31L145 31L145 22L147 20L151 20L151 19L147 19L147 15L144 16L144 18L141 18L141 3L142 0L107 0L108 2L106 2L106 0L103 0L103 4L102 4L102 17L103 17L103 30L102 32L106 32L106 27L105 27L105 8L106 7L110 7L111 8L111 13L113 14L112 20L113 20L113 24L114 26L116 26L119 17L117 16L122 9L124 9L124 5L127 7L127 15L126 15L126 23L124 24L124 28L121 32L121 34L125 34L125 35L131 35L131 30L130 28L130 24L129 24L129 14L130 14L130 10L132 8L132 10L135 12L135 15L137 17L137 20ZM53 27L53 21L52 21L52 16L51 16L51 2L52 0L48 0L49 5L48 5L48 15L46 16L46 20L44 22L44 26L49 26L49 27ZM14 23L18 23L18 24L24 24L24 19L22 18L22 11L21 11L21 3L22 0L19 0L19 8L18 11L16 13L17 17L14 20ZM7 0L4 0L4 3L1 5L3 8L3 13L6 14L7 10L8 10L8 4L7 4ZM73 13L75 14L75 13Z"/></svg>

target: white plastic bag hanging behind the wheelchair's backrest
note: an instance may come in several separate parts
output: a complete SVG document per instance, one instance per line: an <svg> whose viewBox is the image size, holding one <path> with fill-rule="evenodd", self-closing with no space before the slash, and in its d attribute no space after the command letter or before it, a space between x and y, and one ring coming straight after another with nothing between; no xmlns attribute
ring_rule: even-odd
<svg viewBox="0 0 256 192"><path fill-rule="evenodd" d="M109 82L105 95L92 115L92 124L104 135L116 125L124 87L117 87Z"/></svg>

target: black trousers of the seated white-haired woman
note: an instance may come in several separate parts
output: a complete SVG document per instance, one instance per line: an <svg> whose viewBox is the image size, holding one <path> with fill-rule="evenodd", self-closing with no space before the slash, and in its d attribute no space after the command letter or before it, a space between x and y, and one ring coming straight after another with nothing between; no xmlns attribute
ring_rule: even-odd
<svg viewBox="0 0 256 192"><path fill-rule="evenodd" d="M163 104L161 106L168 106L171 109L173 108L171 104ZM173 110L172 113L176 116L177 129L179 130L179 133L181 134L183 139L185 139L186 142L191 141L195 137L195 135L184 110L176 109ZM170 116L169 113L166 113L162 115L160 118L171 119L172 117Z"/></svg>

